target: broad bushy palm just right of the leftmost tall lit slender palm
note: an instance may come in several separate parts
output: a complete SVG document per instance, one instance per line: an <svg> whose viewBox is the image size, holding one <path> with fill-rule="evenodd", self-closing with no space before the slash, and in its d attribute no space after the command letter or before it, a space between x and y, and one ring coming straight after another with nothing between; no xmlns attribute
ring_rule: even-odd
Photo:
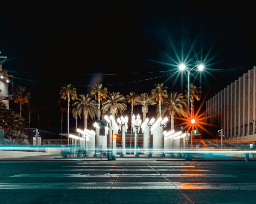
<svg viewBox="0 0 256 204"><path fill-rule="evenodd" d="M89 94L80 94L80 98L76 98L72 107L74 112L77 112L76 115L79 116L81 119L81 115L84 116L84 129L87 129L87 121L88 121L88 114L90 115L91 119L94 119L97 115L97 102L92 100L92 96Z"/></svg>

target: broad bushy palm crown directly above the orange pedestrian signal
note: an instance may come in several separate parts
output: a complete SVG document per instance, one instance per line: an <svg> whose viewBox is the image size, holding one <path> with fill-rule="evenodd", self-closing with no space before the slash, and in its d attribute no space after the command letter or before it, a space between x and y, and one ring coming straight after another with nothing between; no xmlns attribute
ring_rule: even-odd
<svg viewBox="0 0 256 204"><path fill-rule="evenodd" d="M106 98L107 100L102 103L102 110L106 113L108 109L110 109L110 113L114 118L115 114L116 117L118 117L118 111L122 114L127 109L126 99L123 94L119 92L109 92Z"/></svg>

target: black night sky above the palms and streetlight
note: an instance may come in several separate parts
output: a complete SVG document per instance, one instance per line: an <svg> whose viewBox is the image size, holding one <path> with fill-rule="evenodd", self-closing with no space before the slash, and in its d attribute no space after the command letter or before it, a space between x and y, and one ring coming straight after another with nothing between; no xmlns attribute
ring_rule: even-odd
<svg viewBox="0 0 256 204"><path fill-rule="evenodd" d="M164 83L168 92L184 92L187 77L177 72L179 62L193 67L199 60L205 70L191 72L190 81L209 99L256 65L255 5L223 0L1 2L0 51L7 56L2 68L14 75L13 86L25 86L56 110L65 83L80 94L95 83L123 95L150 93L156 83ZM10 102L10 108L18 105ZM52 114L58 124L60 112Z"/></svg>

